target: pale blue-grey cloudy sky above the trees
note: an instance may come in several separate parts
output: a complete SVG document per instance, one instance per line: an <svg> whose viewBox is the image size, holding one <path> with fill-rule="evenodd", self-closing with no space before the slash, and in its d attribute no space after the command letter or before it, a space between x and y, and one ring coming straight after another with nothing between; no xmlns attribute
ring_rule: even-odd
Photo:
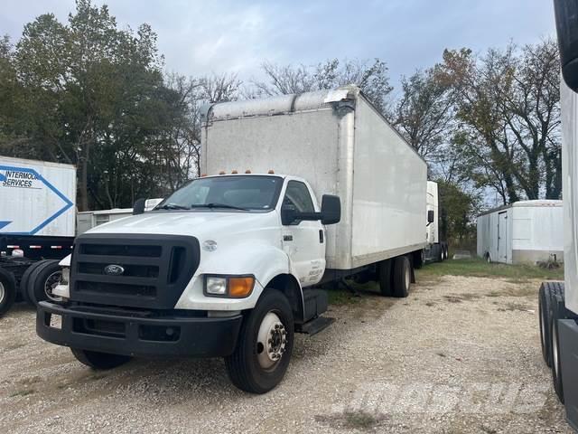
<svg viewBox="0 0 578 434"><path fill-rule="evenodd" d="M96 0L120 26L149 23L167 71L202 75L237 71L247 80L259 64L312 64L328 58L387 61L402 74L439 61L444 48L519 44L554 35L549 0ZM52 12L61 21L73 0L2 0L0 34L14 41L23 25Z"/></svg>

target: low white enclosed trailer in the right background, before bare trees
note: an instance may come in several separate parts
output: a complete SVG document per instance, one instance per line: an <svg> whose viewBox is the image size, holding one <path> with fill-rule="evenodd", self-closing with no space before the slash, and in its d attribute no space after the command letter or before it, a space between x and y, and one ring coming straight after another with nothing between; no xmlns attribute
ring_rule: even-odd
<svg viewBox="0 0 578 434"><path fill-rule="evenodd" d="M478 216L477 253L505 264L564 261L563 203L519 201Z"/></svg>

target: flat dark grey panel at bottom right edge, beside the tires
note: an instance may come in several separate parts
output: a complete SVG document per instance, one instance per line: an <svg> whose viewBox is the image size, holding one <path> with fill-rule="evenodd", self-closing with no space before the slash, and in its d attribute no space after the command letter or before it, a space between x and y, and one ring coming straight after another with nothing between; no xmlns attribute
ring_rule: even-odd
<svg viewBox="0 0 578 434"><path fill-rule="evenodd" d="M578 323L560 319L559 325L566 420L578 432Z"/></svg>

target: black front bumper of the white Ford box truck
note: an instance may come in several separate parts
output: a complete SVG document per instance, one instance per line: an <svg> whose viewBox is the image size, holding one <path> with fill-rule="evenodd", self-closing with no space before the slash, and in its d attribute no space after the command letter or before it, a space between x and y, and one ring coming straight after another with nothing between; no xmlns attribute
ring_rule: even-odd
<svg viewBox="0 0 578 434"><path fill-rule="evenodd" d="M51 326L52 316L61 316L60 328ZM240 314L143 317L123 315L122 311L91 312L42 301L36 314L36 333L52 344L102 353L216 357L233 353L241 322Z"/></svg>

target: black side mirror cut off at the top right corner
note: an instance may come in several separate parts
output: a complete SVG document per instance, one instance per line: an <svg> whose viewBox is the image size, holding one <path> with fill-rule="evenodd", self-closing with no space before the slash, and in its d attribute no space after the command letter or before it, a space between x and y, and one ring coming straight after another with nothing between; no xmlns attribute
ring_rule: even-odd
<svg viewBox="0 0 578 434"><path fill-rule="evenodd" d="M568 87L578 92L578 2L555 0L554 11L562 75Z"/></svg>

